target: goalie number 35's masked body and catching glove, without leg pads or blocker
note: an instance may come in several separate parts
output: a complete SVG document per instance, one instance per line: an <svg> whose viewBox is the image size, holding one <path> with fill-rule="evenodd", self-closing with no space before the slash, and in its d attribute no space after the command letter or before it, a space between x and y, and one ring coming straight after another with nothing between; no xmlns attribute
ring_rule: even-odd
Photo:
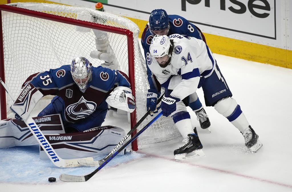
<svg viewBox="0 0 292 192"><path fill-rule="evenodd" d="M31 75L23 86L27 83L43 95L55 95L38 116L61 114L66 132L99 127L108 104L128 112L135 109L128 76L118 70L93 67L84 57L75 58L71 65Z"/></svg>

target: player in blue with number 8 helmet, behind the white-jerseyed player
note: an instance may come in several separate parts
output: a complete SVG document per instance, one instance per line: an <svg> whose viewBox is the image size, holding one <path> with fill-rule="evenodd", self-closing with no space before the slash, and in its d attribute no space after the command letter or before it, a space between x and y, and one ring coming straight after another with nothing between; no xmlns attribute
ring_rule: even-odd
<svg viewBox="0 0 292 192"><path fill-rule="evenodd" d="M151 12L149 17L149 23L145 26L142 33L141 43L144 49L146 63L150 57L149 47L154 35L171 35L171 34L183 34L190 37L195 37L206 42L204 34L198 27L189 23L185 18L179 15L167 15L163 9L155 9ZM146 64L147 65L147 64ZM160 84L147 65L148 82L150 89L147 94L147 110L156 109L157 97L160 92ZM197 119L200 122L202 129L206 129L210 126L209 118L204 110L196 92L191 94L185 99L190 108L196 113Z"/></svg>

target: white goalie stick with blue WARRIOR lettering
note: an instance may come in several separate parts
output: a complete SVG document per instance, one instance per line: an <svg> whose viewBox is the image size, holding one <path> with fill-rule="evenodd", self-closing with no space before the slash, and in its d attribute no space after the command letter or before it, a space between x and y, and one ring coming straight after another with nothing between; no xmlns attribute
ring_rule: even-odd
<svg viewBox="0 0 292 192"><path fill-rule="evenodd" d="M2 84L2 86L4 87L4 89L6 90L8 95L14 100L11 92L9 91L8 87L6 87L6 84L2 81L1 78L0 78L0 83ZM60 158L57 155L57 153L55 152L55 150L53 149L53 147L51 146L51 144L48 142L48 140L46 139L44 134L41 132L41 130L39 129L37 124L34 122L31 115L29 115L28 118L26 120L23 120L23 121L25 122L25 124L27 125L29 130L32 132L32 134L34 135L36 140L39 142L39 145L44 149L44 151L48 155L49 159L53 162L53 164L55 166L57 166L57 167L80 167L80 166L82 166L78 163L80 160L82 160L82 159L93 160L92 157L79 158L79 159L62 159L62 158Z"/></svg>

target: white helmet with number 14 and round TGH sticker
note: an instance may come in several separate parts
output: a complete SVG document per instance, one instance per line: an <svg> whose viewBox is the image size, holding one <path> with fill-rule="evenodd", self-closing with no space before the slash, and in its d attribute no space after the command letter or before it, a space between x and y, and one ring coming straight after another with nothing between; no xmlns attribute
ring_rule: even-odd
<svg viewBox="0 0 292 192"><path fill-rule="evenodd" d="M155 35L150 44L151 56L160 58L167 55L170 44L170 40L166 35Z"/></svg>

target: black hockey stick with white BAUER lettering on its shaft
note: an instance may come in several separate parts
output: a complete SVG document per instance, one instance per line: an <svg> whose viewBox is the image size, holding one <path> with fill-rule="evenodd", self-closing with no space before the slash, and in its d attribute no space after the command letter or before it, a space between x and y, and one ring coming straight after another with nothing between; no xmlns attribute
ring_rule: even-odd
<svg viewBox="0 0 292 192"><path fill-rule="evenodd" d="M163 95L157 100L157 104L160 103L161 99L162 99ZM103 158L102 160L98 160L98 161L91 161L91 160L81 160L79 161L79 163L81 165L84 166L88 166L88 167L96 167L96 166L100 166L102 165L105 161L107 161L109 159L109 157L114 154L118 148L128 139L129 136L131 136L131 134L137 129L137 127L146 119L146 117L151 113L151 110L148 110L147 113L145 113L145 115L135 124L135 126L126 134L126 136L124 136L124 138L117 144L117 146L114 147L114 149L107 155L105 156L105 158Z"/></svg>

